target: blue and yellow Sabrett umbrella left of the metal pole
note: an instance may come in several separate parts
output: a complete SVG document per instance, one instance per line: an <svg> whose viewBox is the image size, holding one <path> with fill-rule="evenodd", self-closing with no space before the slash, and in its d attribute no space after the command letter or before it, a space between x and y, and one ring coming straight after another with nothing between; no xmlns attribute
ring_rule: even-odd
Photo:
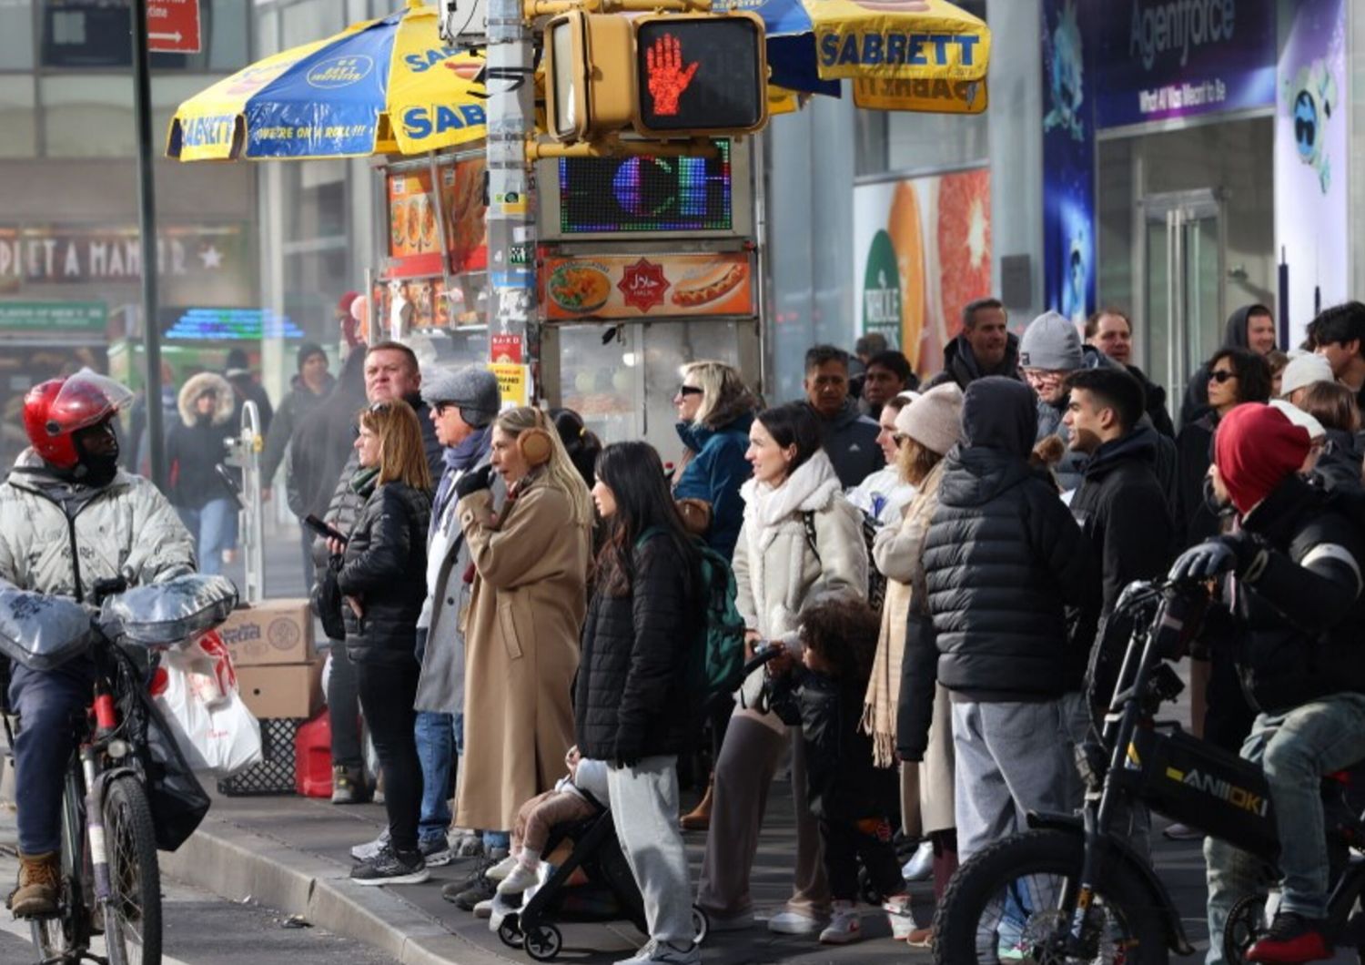
<svg viewBox="0 0 1365 965"><path fill-rule="evenodd" d="M259 60L184 101L182 161L420 154L485 136L483 59L441 44L420 0Z"/></svg>

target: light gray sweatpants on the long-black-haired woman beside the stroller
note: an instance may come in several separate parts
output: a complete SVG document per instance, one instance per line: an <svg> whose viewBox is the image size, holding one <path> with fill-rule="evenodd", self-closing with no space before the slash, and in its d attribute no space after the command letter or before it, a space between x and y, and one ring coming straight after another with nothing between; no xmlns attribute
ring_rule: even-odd
<svg viewBox="0 0 1365 965"><path fill-rule="evenodd" d="M644 897L650 938L692 946L692 883L678 830L678 759L646 758L635 767L609 766L612 820L625 863Z"/></svg>

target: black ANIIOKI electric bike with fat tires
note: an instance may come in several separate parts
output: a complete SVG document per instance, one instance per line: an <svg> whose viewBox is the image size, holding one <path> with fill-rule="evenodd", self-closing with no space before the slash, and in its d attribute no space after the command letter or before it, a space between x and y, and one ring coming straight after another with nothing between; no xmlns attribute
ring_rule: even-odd
<svg viewBox="0 0 1365 965"><path fill-rule="evenodd" d="M1097 651L1088 697L1097 740L1077 748L1085 803L1077 815L1029 815L1029 829L964 863L934 916L934 961L1032 965L1163 965L1189 955L1181 917L1164 884L1127 839L1143 807L1223 838L1265 861L1272 878L1279 841L1260 767L1156 721L1183 682L1171 662L1186 655L1208 594L1197 584L1133 583L1115 613L1132 620L1126 647ZM1103 648L1103 643L1100 644ZM1107 669L1106 669L1107 667ZM1111 693L1111 696L1108 696ZM1365 947L1365 823L1345 801L1339 775L1323 781L1331 854L1330 932ZM1267 895L1233 909L1222 940L1230 962L1267 930ZM1365 962L1365 955L1362 955Z"/></svg>

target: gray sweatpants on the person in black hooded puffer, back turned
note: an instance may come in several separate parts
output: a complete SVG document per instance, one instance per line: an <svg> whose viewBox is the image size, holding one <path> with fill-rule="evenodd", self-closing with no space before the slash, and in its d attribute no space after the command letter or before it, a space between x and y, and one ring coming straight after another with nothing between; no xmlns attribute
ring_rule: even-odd
<svg viewBox="0 0 1365 965"><path fill-rule="evenodd" d="M1029 811L1073 811L1070 738L1058 700L953 703L958 861L1025 830Z"/></svg>

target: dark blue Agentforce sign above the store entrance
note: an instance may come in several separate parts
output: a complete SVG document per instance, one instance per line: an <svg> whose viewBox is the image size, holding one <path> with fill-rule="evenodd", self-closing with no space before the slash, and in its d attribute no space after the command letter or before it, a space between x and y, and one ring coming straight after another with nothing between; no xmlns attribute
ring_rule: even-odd
<svg viewBox="0 0 1365 965"><path fill-rule="evenodd" d="M1275 104L1272 0L1082 0L1100 128ZM1102 11L1103 7L1103 11Z"/></svg>

